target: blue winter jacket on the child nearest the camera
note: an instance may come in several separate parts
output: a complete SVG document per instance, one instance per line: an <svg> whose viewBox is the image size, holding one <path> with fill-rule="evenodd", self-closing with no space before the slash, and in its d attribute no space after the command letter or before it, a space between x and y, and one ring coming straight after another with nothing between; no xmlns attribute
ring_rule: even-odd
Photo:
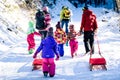
<svg viewBox="0 0 120 80"><path fill-rule="evenodd" d="M55 54L58 55L57 43L53 36L47 36L38 47L35 54L42 50L42 58L54 58Z"/></svg>

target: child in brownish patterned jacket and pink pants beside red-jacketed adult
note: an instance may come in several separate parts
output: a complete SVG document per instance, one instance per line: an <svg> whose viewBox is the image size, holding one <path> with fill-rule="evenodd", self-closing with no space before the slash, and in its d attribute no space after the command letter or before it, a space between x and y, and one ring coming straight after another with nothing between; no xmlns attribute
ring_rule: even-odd
<svg viewBox="0 0 120 80"><path fill-rule="evenodd" d="M74 25L69 26L69 32L68 32L68 41L71 49L71 57L73 58L75 55L77 55L78 50L78 41L76 39L77 32L74 30Z"/></svg>

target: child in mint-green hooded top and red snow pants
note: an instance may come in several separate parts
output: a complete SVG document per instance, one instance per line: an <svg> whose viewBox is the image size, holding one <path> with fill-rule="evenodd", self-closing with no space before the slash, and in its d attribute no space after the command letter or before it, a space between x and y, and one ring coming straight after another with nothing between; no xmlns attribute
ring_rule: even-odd
<svg viewBox="0 0 120 80"><path fill-rule="evenodd" d="M35 31L33 22L29 21L29 27L27 30L27 42L28 42L28 53L29 54L32 54L35 49L34 35L40 36L40 34Z"/></svg>

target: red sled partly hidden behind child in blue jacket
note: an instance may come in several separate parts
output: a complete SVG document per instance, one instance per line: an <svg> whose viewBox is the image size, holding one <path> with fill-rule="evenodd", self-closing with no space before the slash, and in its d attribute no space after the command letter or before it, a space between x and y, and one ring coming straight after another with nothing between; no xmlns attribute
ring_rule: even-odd
<svg viewBox="0 0 120 80"><path fill-rule="evenodd" d="M32 71L42 69L42 59L34 59L32 66Z"/></svg>

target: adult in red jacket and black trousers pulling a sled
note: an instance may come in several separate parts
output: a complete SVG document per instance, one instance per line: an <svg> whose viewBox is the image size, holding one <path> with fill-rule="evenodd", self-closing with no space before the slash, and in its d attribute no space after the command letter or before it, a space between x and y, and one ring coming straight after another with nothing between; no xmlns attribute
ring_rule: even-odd
<svg viewBox="0 0 120 80"><path fill-rule="evenodd" d="M82 22L80 27L80 35L84 32L84 46L87 54L91 51L94 54L94 35L97 32L96 16L88 6L83 8ZM90 47L89 47L90 46Z"/></svg>

